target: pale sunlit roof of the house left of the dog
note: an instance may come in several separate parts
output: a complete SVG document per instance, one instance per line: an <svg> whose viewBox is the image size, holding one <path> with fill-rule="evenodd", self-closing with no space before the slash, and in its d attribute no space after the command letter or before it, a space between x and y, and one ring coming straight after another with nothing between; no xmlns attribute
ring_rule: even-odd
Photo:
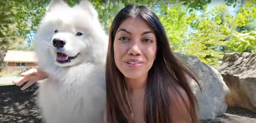
<svg viewBox="0 0 256 123"><path fill-rule="evenodd" d="M36 63L37 62L36 52L8 50L4 57L4 61Z"/></svg>

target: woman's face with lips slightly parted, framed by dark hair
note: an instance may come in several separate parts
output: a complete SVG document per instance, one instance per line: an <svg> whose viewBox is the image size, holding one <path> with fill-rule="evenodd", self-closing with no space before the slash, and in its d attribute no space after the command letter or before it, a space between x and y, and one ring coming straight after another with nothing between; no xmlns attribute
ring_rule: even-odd
<svg viewBox="0 0 256 123"><path fill-rule="evenodd" d="M115 34L115 65L127 79L147 77L156 55L156 43L154 31L146 21L126 19Z"/></svg>

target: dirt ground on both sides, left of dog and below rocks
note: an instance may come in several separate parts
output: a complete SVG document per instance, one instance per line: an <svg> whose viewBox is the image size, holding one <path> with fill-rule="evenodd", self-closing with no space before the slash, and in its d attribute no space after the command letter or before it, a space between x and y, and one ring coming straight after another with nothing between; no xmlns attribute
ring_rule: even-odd
<svg viewBox="0 0 256 123"><path fill-rule="evenodd" d="M0 86L0 123L44 123L36 105L37 88L21 91L17 86ZM202 123L256 123L256 113L228 108L225 114Z"/></svg>

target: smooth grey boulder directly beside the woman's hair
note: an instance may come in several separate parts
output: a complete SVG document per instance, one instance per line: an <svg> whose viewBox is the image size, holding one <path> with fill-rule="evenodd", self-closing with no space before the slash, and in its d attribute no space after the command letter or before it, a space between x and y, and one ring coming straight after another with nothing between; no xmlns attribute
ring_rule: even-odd
<svg viewBox="0 0 256 123"><path fill-rule="evenodd" d="M227 110L225 97L230 91L220 73L195 56L187 57L178 53L176 56L193 69L200 79L202 92L197 83L191 81L191 88L199 105L199 119L214 119L225 113Z"/></svg>

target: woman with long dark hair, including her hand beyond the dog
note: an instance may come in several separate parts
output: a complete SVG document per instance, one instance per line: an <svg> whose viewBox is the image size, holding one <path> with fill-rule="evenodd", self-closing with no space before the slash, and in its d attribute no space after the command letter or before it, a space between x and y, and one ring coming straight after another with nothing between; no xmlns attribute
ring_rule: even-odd
<svg viewBox="0 0 256 123"><path fill-rule="evenodd" d="M187 77L197 79L174 56L158 17L145 6L128 5L109 32L107 123L197 123L197 101ZM33 70L23 76L47 77Z"/></svg>

